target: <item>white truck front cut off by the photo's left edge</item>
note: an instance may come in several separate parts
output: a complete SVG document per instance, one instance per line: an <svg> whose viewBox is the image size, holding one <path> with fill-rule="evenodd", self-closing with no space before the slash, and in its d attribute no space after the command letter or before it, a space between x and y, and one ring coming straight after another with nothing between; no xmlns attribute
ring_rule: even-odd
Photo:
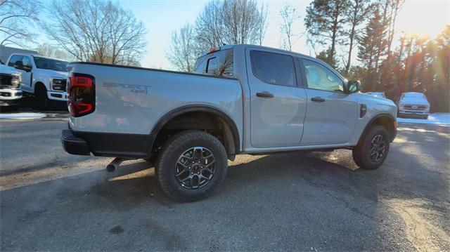
<svg viewBox="0 0 450 252"><path fill-rule="evenodd" d="M0 64L0 106L17 109L22 98L20 72L12 67Z"/></svg>

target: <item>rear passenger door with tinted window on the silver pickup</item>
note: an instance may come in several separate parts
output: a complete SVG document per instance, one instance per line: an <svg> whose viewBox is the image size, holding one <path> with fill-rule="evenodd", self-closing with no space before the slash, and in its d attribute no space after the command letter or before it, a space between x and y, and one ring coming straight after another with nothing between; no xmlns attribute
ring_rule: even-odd
<svg viewBox="0 0 450 252"><path fill-rule="evenodd" d="M289 54L246 49L250 86L250 141L253 147L300 144L306 93L299 65Z"/></svg>

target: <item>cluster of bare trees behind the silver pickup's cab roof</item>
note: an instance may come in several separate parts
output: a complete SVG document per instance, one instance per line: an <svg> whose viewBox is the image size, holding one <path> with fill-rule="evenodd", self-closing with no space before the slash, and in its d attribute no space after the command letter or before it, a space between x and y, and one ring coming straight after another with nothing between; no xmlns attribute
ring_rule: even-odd
<svg viewBox="0 0 450 252"><path fill-rule="evenodd" d="M174 68L193 72L200 53L224 44L262 45L267 28L267 8L254 0L212 0L195 24L172 33L166 58Z"/></svg>

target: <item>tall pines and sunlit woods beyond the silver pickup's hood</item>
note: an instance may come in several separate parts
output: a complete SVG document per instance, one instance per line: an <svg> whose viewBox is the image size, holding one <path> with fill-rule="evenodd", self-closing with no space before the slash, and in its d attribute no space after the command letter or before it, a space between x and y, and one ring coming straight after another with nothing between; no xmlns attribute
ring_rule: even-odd
<svg viewBox="0 0 450 252"><path fill-rule="evenodd" d="M404 92L421 92L433 112L449 112L450 26L435 38L401 34L399 46L392 48L402 4L404 0L314 0L304 22L313 44L326 46L317 58L347 79L361 80L364 92L385 92L392 100ZM352 64L356 47L359 62Z"/></svg>

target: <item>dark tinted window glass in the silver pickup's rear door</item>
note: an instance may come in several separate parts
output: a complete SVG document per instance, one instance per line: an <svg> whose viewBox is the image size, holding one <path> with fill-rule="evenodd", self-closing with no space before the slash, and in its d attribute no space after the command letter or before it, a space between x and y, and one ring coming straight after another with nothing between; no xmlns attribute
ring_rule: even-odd
<svg viewBox="0 0 450 252"><path fill-rule="evenodd" d="M252 72L268 84L296 86L294 58L290 55L250 51Z"/></svg>

